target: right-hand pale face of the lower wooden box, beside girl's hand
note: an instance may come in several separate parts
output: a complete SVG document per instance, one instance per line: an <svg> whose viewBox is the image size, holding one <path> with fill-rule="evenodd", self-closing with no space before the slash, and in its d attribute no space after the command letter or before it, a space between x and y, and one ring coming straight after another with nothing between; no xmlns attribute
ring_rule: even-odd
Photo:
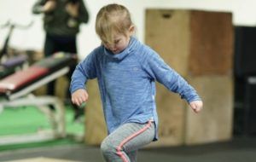
<svg viewBox="0 0 256 162"><path fill-rule="evenodd" d="M187 109L185 143L221 142L232 137L233 81L228 76L189 78L189 83L201 94L201 113Z"/></svg>

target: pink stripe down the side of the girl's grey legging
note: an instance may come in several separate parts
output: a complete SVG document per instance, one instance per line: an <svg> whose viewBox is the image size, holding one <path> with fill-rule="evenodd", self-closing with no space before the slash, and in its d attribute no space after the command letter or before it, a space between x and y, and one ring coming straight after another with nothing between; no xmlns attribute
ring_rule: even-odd
<svg viewBox="0 0 256 162"><path fill-rule="evenodd" d="M125 145L126 142L129 142L132 138L134 138L135 136L138 136L139 134L143 133L143 131L147 130L150 127L151 122L152 121L148 121L148 124L142 130L139 130L136 133L132 134L131 136L128 136L127 138L125 138L123 142L119 144L117 148L117 154L121 159L123 159L124 162L127 162L127 159L125 159L124 153L121 152L122 147Z"/></svg>

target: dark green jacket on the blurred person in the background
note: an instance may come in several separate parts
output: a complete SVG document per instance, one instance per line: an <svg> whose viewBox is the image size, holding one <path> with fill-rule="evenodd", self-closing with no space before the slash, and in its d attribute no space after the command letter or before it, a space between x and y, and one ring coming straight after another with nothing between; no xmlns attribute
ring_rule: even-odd
<svg viewBox="0 0 256 162"><path fill-rule="evenodd" d="M38 0L32 7L33 14L42 14L42 7L48 0ZM74 18L66 11L66 4L70 0L55 0L55 10L44 13L45 32L59 36L76 36L79 32L79 25L87 23L89 20L88 11L83 0L79 2L79 16Z"/></svg>

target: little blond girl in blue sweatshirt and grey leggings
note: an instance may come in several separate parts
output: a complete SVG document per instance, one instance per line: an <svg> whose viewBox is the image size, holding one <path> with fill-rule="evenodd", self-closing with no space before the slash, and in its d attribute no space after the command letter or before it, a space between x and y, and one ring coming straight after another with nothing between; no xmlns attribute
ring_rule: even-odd
<svg viewBox="0 0 256 162"><path fill-rule="evenodd" d="M96 33L102 44L80 62L73 72L72 101L88 100L86 81L97 78L108 136L103 158L109 162L136 161L137 150L158 139L155 81L181 95L199 113L202 101L177 72L153 49L132 35L135 26L124 6L108 4L96 16Z"/></svg>

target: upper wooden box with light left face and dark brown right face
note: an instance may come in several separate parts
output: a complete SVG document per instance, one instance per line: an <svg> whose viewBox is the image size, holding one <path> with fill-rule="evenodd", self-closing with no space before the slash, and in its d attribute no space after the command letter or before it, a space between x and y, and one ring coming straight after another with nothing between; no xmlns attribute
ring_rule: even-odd
<svg viewBox="0 0 256 162"><path fill-rule="evenodd" d="M233 57L232 14L147 9L146 43L181 75L230 74Z"/></svg>

